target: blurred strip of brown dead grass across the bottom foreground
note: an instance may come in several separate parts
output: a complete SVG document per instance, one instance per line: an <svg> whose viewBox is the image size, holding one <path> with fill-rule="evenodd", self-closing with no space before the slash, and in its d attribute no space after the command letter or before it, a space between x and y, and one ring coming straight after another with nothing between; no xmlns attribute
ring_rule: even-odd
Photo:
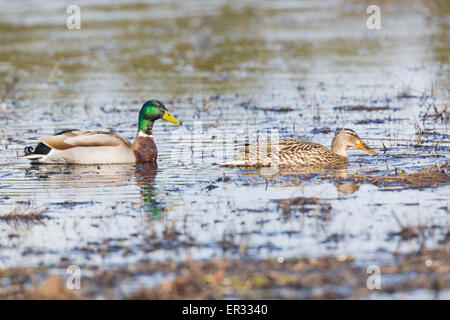
<svg viewBox="0 0 450 320"><path fill-rule="evenodd" d="M364 264L351 255L294 259L212 259L209 261L139 262L105 270L85 266L90 275L82 277L81 290L68 290L64 279L36 269L0 270L10 286L0 288L0 299L355 299L370 293L392 294L425 289L439 297L450 288L450 261L446 244L409 254L394 254L395 262L380 265L381 289L367 288ZM64 264L52 268L65 268ZM38 284L36 275L44 275ZM153 273L171 275L153 287L141 287L133 294L115 296L123 281ZM386 277L390 275L390 277ZM392 276L396 276L395 281ZM26 285L27 283L32 283Z"/></svg>

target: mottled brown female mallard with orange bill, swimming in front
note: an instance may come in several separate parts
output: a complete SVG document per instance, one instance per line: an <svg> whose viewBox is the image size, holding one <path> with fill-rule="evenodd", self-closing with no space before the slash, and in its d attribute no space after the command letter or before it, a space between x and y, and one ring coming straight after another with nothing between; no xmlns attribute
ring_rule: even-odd
<svg viewBox="0 0 450 320"><path fill-rule="evenodd" d="M234 160L222 163L224 167L250 166L314 166L338 167L348 163L346 150L355 147L371 154L369 148L355 131L340 130L331 143L331 150L323 145L300 139L280 139L253 143L239 152Z"/></svg>

